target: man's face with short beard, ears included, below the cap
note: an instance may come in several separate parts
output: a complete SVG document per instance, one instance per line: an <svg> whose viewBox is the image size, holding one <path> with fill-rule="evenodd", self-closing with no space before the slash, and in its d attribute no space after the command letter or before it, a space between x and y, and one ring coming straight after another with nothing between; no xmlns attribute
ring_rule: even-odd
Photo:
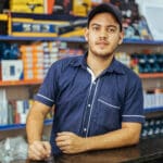
<svg viewBox="0 0 163 163"><path fill-rule="evenodd" d="M123 33L112 14L100 13L90 21L85 38L89 45L89 53L105 58L112 55L116 47L122 43Z"/></svg>

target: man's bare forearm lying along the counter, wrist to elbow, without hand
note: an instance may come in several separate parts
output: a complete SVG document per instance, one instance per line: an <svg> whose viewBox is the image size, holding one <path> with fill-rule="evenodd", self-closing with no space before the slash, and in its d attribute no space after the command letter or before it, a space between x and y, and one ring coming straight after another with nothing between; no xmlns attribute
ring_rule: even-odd
<svg viewBox="0 0 163 163"><path fill-rule="evenodd" d="M140 129L122 128L101 136L88 137L84 140L86 151L136 145L139 141L139 134Z"/></svg>

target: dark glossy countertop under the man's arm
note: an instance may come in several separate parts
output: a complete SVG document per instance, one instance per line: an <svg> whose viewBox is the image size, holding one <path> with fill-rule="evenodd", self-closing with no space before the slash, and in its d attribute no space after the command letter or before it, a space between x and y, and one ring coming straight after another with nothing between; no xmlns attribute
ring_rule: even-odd
<svg viewBox="0 0 163 163"><path fill-rule="evenodd" d="M46 161L24 161L46 163ZM63 154L54 163L163 163L163 137L140 140L137 146L112 150L91 151L80 154ZM15 163L18 163L17 161ZM23 163L23 162L20 162ZM47 162L48 163L48 162ZM52 163L52 162L49 162Z"/></svg>

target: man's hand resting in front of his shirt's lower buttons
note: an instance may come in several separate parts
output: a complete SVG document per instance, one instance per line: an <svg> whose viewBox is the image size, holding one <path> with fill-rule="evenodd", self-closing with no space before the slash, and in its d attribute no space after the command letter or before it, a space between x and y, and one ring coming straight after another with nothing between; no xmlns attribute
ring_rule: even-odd
<svg viewBox="0 0 163 163"><path fill-rule="evenodd" d="M86 138L70 131L58 133L55 141L63 153L79 153L87 150Z"/></svg>

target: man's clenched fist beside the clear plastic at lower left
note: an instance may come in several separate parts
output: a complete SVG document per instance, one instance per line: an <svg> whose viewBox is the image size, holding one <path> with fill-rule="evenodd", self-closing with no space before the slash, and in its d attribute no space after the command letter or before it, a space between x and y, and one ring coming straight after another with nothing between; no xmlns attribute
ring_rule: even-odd
<svg viewBox="0 0 163 163"><path fill-rule="evenodd" d="M45 160L50 156L51 146L48 141L34 141L28 147L28 159Z"/></svg>

